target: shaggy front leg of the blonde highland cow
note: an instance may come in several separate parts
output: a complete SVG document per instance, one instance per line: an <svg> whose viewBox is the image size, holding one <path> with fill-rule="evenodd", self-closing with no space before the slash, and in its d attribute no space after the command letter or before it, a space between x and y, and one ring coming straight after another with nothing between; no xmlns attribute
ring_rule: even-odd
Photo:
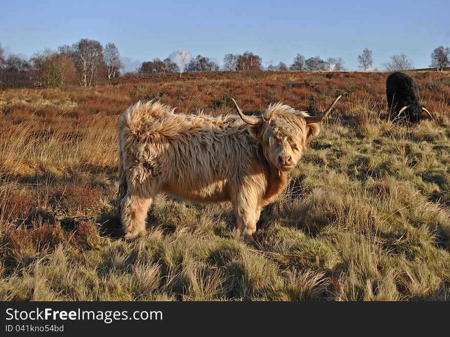
<svg viewBox="0 0 450 337"><path fill-rule="evenodd" d="M256 195L239 193L232 199L232 204L241 238L247 243L255 242L253 233L256 232L256 222L261 212Z"/></svg>

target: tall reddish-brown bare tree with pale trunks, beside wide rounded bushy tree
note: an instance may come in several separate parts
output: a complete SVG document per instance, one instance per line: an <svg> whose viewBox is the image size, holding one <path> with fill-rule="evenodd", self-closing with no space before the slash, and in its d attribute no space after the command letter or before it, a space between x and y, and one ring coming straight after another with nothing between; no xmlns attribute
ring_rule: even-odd
<svg viewBox="0 0 450 337"><path fill-rule="evenodd" d="M98 75L106 67L100 42L81 39L72 45L72 56L80 76L80 85L97 85Z"/></svg>

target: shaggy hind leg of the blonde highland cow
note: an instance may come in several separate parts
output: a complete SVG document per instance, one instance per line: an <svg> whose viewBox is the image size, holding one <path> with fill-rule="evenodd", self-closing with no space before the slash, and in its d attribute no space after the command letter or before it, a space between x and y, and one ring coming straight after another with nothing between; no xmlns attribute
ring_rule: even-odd
<svg viewBox="0 0 450 337"><path fill-rule="evenodd" d="M126 196L121 200L120 217L125 239L131 240L145 233L145 219L156 189L130 188Z"/></svg>

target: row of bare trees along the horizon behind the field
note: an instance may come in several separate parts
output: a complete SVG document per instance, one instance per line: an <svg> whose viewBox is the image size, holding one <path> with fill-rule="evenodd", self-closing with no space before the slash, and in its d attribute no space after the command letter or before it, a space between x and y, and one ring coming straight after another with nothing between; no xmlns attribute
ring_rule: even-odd
<svg viewBox="0 0 450 337"><path fill-rule="evenodd" d="M175 60L176 59L176 60ZM176 61L176 62L175 62ZM372 51L368 48L358 55L359 69L363 71L377 70L373 68ZM404 71L414 68L413 62L404 55L393 55L389 62L383 63L387 71ZM431 65L437 71L450 66L450 49L437 47L431 54ZM99 81L110 81L121 76L123 63L119 50L112 42L102 44L96 40L81 39L78 42L65 44L57 50L45 49L34 54L29 60L17 55L5 55L0 44L0 89L49 86L64 87L68 85L95 86ZM154 58L144 61L137 70L139 74L165 74L183 72L210 71L344 71L342 58L320 56L306 58L297 54L290 65L284 62L262 65L259 55L246 51L242 54L226 54L220 66L206 56L197 55L190 58L186 50L177 52L174 59L161 60Z"/></svg>

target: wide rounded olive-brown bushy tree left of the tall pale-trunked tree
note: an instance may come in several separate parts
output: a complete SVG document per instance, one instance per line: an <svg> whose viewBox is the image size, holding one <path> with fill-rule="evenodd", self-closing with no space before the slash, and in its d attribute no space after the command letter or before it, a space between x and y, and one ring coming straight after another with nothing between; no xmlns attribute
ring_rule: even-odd
<svg viewBox="0 0 450 337"><path fill-rule="evenodd" d="M37 85L62 87L75 84L77 72L69 55L46 49L36 53L31 62L34 65L34 81Z"/></svg>

